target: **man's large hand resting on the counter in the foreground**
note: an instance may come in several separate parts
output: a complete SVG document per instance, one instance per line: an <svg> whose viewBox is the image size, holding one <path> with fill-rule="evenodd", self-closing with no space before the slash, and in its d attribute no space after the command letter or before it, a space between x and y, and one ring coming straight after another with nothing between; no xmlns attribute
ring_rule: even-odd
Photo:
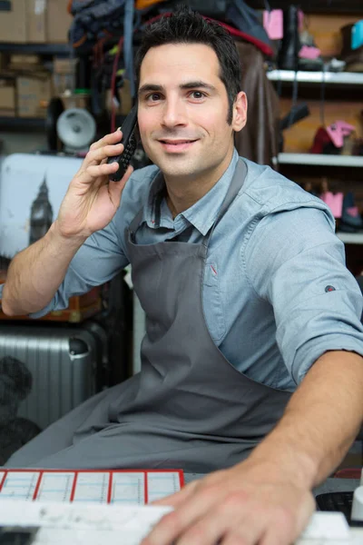
<svg viewBox="0 0 363 545"><path fill-rule="evenodd" d="M174 510L142 545L290 545L315 509L308 487L256 461L215 471L153 505Z"/></svg>

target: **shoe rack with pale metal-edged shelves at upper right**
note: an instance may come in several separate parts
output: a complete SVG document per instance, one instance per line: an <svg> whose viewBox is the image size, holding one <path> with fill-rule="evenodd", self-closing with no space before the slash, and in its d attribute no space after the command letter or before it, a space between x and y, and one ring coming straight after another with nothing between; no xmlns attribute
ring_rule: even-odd
<svg viewBox="0 0 363 545"><path fill-rule="evenodd" d="M311 154L310 148L319 127L343 120L355 126L354 137L363 138L363 66L362 72L331 72L329 60L339 58L342 48L340 28L363 19L363 13L341 15L306 13L309 34L313 36L324 60L321 71L292 71L272 67L267 77L280 94L280 118L289 113L294 82L298 86L297 103L305 102L309 116L283 131L283 148L275 158L280 173L319 193L322 180L332 193L352 192L359 213L363 213L363 154L352 155L344 146L341 154ZM295 85L296 85L295 83ZM338 225L338 221L337 221ZM338 231L346 244L348 268L363 271L363 230Z"/></svg>

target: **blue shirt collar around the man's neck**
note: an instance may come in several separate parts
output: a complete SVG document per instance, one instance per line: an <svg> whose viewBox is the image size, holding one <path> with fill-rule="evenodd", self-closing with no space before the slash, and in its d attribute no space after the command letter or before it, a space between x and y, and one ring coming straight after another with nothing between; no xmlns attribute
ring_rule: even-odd
<svg viewBox="0 0 363 545"><path fill-rule="evenodd" d="M231 179L236 169L239 160L239 154L234 149L231 163L227 170L221 175L221 178L211 190L203 195L199 201L194 203L190 208L178 214L189 223L191 223L204 236L211 229L215 222L218 212L221 208L221 203L227 194L230 187ZM152 180L149 199L146 209L143 211L143 220L152 228L160 226L173 228L172 214L169 208L165 206L166 187L162 173L159 172ZM177 221L176 216L174 221Z"/></svg>

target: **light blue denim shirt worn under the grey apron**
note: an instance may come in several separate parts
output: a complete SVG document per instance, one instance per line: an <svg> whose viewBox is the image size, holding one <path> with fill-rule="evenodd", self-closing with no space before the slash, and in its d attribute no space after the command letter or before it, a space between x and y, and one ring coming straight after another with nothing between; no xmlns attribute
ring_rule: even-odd
<svg viewBox="0 0 363 545"><path fill-rule="evenodd" d="M185 242L201 242L238 159L235 151L219 182L175 219L161 188L152 183L158 168L135 171L113 221L83 244L54 300L33 316L66 308L71 295L123 269L129 263L125 227L142 207L137 243L158 243L179 233ZM363 355L362 296L345 266L344 244L326 204L270 167L244 161L245 182L211 236L205 319L212 339L240 372L293 391L322 353Z"/></svg>

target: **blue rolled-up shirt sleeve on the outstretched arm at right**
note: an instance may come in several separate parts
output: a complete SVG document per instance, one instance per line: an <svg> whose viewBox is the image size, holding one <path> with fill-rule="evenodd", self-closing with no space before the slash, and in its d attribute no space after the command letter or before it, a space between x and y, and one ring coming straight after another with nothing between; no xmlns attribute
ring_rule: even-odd
<svg viewBox="0 0 363 545"><path fill-rule="evenodd" d="M308 207L266 216L250 237L246 268L273 307L276 341L297 384L324 352L363 355L363 298L329 214Z"/></svg>

